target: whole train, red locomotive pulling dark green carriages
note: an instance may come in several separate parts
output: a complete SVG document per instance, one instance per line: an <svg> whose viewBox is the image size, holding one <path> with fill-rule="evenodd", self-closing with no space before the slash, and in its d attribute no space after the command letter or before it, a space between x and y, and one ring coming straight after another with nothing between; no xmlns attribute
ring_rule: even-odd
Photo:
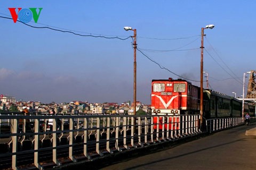
<svg viewBox="0 0 256 170"><path fill-rule="evenodd" d="M151 109L153 115L200 113L200 87L183 79L152 80ZM203 117L241 117L242 101L210 89L203 89ZM254 116L255 105L244 102L244 114ZM156 120L154 120L156 122Z"/></svg>

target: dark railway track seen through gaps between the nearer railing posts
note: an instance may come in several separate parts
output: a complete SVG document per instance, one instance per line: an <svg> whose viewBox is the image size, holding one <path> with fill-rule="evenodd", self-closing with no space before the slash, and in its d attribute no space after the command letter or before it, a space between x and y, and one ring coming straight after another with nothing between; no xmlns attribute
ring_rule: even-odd
<svg viewBox="0 0 256 170"><path fill-rule="evenodd" d="M113 135L114 136L114 135ZM99 146L100 146L100 150L105 150L107 145L106 145L106 136L102 135L102 139L99 141ZM92 157L97 157L99 156L97 154L97 152L95 152L96 150L96 142L94 140L94 135L91 135L91 137L87 142L87 152L89 153L89 155L91 155ZM127 135L126 137L127 139L132 138L131 135ZM50 140L50 139L49 139ZM82 142L83 139L81 138L80 142L76 142L73 145L73 156L78 158L78 160L86 160L87 158L83 155L83 150L84 150L84 143ZM123 143L124 138L123 137L119 137L118 138L118 143L119 145L121 143ZM28 141L26 141L28 142ZM31 141L30 141L31 142ZM112 150L116 150L115 149L115 145L116 145L116 138L115 137L111 137L109 139L109 145L110 148L112 148ZM138 137L134 137L134 142L137 143L138 142ZM127 143L127 145L129 145L130 143ZM57 158L59 160L60 163L62 164L66 164L68 162L71 162L71 160L69 159L69 145L59 145L60 148L57 149ZM122 147L124 148L124 147ZM11 149L11 148L10 148ZM53 160L53 151L52 151L52 147L46 147L43 148L44 150L39 151L39 162L44 166L56 166L52 160ZM33 150L25 150L29 153L24 153L24 154L18 154L17 155L17 165L20 169L27 169L27 168L31 168L34 166L34 151ZM0 159L0 167L1 169L10 169L12 167L12 156L7 156L7 157L3 157Z"/></svg>

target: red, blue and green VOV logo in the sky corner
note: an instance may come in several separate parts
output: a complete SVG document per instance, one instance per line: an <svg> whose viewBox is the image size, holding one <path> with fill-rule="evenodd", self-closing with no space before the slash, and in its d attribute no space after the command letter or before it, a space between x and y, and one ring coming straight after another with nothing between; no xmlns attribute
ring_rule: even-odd
<svg viewBox="0 0 256 170"><path fill-rule="evenodd" d="M18 7L18 13L16 13L16 8L15 7L9 7L8 8L11 15L12 15L12 20L14 23L17 22L17 20L19 19L21 22L27 23L30 22L32 20L32 18L34 19L35 23L37 23L39 15L42 11L42 7L39 7L39 12L36 12L36 7L30 7L30 8L21 8Z"/></svg>

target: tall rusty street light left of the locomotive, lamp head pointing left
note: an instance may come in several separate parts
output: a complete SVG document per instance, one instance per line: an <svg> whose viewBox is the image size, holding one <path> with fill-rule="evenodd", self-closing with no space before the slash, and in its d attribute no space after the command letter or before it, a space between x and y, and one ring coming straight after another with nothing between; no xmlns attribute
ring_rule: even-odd
<svg viewBox="0 0 256 170"><path fill-rule="evenodd" d="M134 33L134 41L133 41L133 49L134 49L134 62L133 62L133 104L134 104L134 109L133 109L133 114L136 115L136 49L137 49L137 44L136 44L136 36L137 32L136 29L132 29L132 27L124 27L125 31L132 30Z"/></svg>

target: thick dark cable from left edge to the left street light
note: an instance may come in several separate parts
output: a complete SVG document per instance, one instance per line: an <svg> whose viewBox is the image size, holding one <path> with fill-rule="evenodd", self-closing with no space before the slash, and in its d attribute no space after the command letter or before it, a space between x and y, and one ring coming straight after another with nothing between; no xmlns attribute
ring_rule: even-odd
<svg viewBox="0 0 256 170"><path fill-rule="evenodd" d="M12 18L8 18L8 17L5 17L5 16L0 16L0 18L12 20ZM19 20L17 20L17 21L18 21L18 22L21 22L21 21L19 21ZM51 27L35 27L35 26L33 26L33 25L29 25L29 24L24 23L24 22L21 22L21 23L23 23L23 24L25 24L25 25L27 25L27 26L29 26L29 27L32 27L32 28L37 28L37 29L50 29L50 30L54 30L54 31L67 32L67 33L72 33L72 34L74 34L74 35L76 35L76 36L82 36L82 37L94 37L94 38L106 38L106 39L120 39L120 40L126 40L126 39L128 39L128 38L131 38L131 36L130 36L130 37L127 37L127 38L119 38L119 37L106 37L106 36L82 35L82 34L80 34L80 33L75 33L75 32L73 32L73 31L63 31L63 30L54 29L54 28L51 28Z"/></svg>

